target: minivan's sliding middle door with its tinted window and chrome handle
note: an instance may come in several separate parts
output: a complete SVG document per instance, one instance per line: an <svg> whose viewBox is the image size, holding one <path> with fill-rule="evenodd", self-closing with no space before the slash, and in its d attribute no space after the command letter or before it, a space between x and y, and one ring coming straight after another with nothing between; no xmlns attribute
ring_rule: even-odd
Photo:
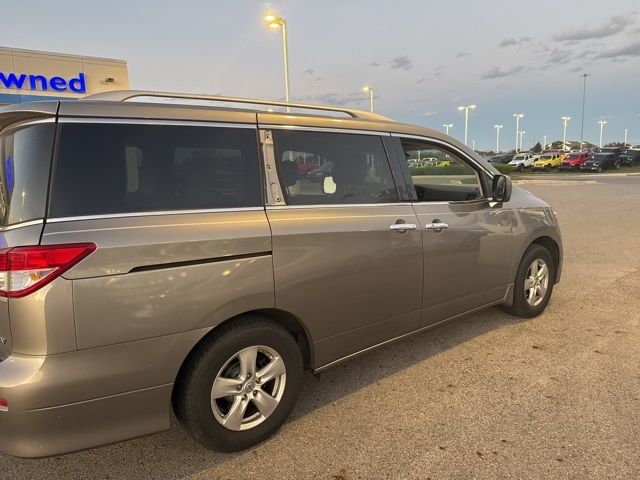
<svg viewBox="0 0 640 480"><path fill-rule="evenodd" d="M275 303L310 330L318 367L419 328L421 232L383 136L262 132L282 191L267 207Z"/></svg>

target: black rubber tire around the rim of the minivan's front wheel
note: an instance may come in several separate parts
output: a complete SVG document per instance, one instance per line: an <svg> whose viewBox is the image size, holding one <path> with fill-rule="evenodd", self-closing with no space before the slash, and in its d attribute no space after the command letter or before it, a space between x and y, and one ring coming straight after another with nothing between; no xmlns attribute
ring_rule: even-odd
<svg viewBox="0 0 640 480"><path fill-rule="evenodd" d="M549 284L547 292L542 302L537 306L530 305L525 296L524 281L529 270L529 266L534 260L541 259L547 264L549 269ZM532 318L540 315L549 303L551 294L553 293L553 284L555 282L556 266L549 250L542 245L530 245L522 256L518 271L516 273L515 286L513 289L513 304L506 306L505 310L511 315L523 318Z"/></svg>

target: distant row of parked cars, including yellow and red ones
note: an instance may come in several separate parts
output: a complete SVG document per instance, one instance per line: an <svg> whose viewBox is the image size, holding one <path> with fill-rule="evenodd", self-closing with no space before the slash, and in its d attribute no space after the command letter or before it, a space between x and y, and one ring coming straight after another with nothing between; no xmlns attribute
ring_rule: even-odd
<svg viewBox="0 0 640 480"><path fill-rule="evenodd" d="M558 170L601 172L606 169L620 169L623 166L640 165L640 146L636 147L602 147L594 150L577 150L563 152L561 150L544 150L537 154L520 152L499 154L489 158L493 164L509 164L518 171L527 168L532 170Z"/></svg>

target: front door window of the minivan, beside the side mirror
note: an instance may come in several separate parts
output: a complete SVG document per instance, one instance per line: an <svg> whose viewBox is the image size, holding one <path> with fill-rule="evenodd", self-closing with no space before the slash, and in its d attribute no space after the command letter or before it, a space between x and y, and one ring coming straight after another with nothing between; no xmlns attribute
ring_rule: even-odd
<svg viewBox="0 0 640 480"><path fill-rule="evenodd" d="M482 197L478 173L461 157L419 140L402 140L420 202L453 202Z"/></svg>

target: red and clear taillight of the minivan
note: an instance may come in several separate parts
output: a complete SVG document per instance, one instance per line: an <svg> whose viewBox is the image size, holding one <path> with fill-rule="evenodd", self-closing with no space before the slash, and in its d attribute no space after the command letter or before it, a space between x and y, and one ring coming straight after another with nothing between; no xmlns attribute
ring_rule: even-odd
<svg viewBox="0 0 640 480"><path fill-rule="evenodd" d="M0 297L24 297L96 249L94 243L0 249Z"/></svg>

